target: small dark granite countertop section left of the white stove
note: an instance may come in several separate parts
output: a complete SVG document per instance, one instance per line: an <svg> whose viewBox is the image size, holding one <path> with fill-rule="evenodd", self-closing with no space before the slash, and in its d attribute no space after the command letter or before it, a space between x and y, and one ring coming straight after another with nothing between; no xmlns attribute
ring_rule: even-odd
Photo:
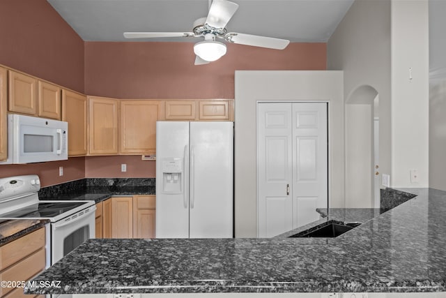
<svg viewBox="0 0 446 298"><path fill-rule="evenodd" d="M17 219L0 223L0 246L43 227L49 220Z"/></svg>

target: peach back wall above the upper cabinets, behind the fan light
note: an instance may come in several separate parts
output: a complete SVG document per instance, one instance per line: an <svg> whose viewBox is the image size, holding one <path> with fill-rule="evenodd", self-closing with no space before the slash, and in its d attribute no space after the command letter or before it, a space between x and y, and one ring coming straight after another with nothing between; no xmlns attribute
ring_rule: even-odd
<svg viewBox="0 0 446 298"><path fill-rule="evenodd" d="M193 43L86 42L85 92L114 98L234 98L235 70L325 70L325 43L285 50L227 45L224 57L194 66Z"/></svg>

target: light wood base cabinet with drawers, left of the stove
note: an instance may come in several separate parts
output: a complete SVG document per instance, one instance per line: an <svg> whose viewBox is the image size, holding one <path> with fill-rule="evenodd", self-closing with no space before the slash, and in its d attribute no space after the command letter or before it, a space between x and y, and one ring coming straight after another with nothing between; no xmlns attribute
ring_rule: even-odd
<svg viewBox="0 0 446 298"><path fill-rule="evenodd" d="M1 246L0 258L0 281L29 281L45 269L45 228ZM23 288L0 288L0 297L30 296Z"/></svg>

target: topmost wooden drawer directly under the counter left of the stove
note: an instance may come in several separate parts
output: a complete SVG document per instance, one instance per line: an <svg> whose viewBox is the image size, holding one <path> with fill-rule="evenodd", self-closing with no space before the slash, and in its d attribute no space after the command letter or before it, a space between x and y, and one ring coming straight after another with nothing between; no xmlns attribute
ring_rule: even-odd
<svg viewBox="0 0 446 298"><path fill-rule="evenodd" d="M45 228L40 228L30 234L26 234L15 241L0 247L0 270L22 260L26 255L45 247ZM43 257L45 266L45 256ZM26 269L27 270L27 269ZM2 279L5 281L5 279ZM8 281L6 279L6 281Z"/></svg>

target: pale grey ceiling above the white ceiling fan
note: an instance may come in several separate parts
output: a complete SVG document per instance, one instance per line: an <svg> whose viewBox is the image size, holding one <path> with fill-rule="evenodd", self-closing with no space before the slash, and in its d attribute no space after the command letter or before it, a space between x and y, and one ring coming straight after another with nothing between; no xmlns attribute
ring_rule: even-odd
<svg viewBox="0 0 446 298"><path fill-rule="evenodd" d="M85 41L129 41L126 31L190 32L208 15L208 0L47 0ZM228 31L327 42L354 0L231 0ZM147 41L147 39L143 39ZM188 41L191 38L151 38Z"/></svg>

